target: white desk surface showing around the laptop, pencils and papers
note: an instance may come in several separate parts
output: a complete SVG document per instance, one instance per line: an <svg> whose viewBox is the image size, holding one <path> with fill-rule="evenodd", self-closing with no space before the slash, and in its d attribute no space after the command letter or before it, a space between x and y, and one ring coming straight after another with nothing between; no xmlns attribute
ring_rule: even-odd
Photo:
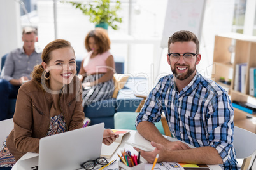
<svg viewBox="0 0 256 170"><path fill-rule="evenodd" d="M127 131L127 130L124 130L124 131ZM117 148L117 151L115 152L115 154L113 154L113 156L108 160L110 160L110 161L114 160L114 159L119 160L118 155L116 153L120 154L121 150L124 150L124 149L126 151L127 150L131 151L131 153L135 153L135 154L138 153L136 150L134 150L134 148L131 145L128 145L127 143L125 143L125 141L128 141L129 143L136 143L136 144L144 145L145 147L149 147L149 148L152 147L150 145L150 142L147 141L145 138L143 138L137 131L132 131L132 130L129 130L129 131L130 131L130 133L125 134L125 136L123 137L122 143ZM177 139L171 138L171 137L168 137L168 136L166 136L166 138L170 141L178 141ZM24 160L24 159L27 159L29 157L35 157L37 155L38 154L34 154L34 153L29 152L29 153L25 154L20 160ZM146 162L146 160L143 159L143 157L141 157L141 161ZM17 164L18 164L18 162L17 162ZM17 164L15 164L15 166L13 166L12 170L17 170ZM221 167L218 166L218 165L208 165L208 166L211 167L211 169L213 169L213 170L221 169ZM118 161L116 161L115 164L113 164L112 166L109 166L108 168L105 168L105 170L107 170L107 169L115 169L116 170L117 168L118 168Z"/></svg>

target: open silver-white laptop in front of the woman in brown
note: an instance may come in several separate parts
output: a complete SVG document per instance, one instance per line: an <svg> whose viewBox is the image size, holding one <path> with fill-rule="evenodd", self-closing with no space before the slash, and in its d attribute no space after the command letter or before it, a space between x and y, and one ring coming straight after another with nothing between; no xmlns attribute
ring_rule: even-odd
<svg viewBox="0 0 256 170"><path fill-rule="evenodd" d="M80 169L101 155L104 123L41 138L39 156L17 162L18 170Z"/></svg>

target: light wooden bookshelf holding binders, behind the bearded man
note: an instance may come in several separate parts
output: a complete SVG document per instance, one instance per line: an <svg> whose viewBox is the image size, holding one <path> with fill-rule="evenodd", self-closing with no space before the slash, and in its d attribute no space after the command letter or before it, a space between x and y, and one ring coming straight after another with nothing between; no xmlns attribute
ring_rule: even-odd
<svg viewBox="0 0 256 170"><path fill-rule="evenodd" d="M245 93L236 91L236 64L247 63L245 76ZM221 34L215 36L215 46L213 53L213 81L227 89L231 101L248 102L256 104L256 98L249 95L249 68L256 67L256 37L246 36L238 33ZM231 79L231 84L227 85L218 82L220 77L227 81ZM234 108L234 125L256 133L256 114L248 114Z"/></svg>

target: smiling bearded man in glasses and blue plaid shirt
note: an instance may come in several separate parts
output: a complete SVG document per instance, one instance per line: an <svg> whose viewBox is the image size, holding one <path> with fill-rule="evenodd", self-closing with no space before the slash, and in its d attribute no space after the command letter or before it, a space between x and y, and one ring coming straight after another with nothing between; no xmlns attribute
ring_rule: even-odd
<svg viewBox="0 0 256 170"><path fill-rule="evenodd" d="M227 92L217 83L199 74L199 41L189 31L175 32L168 41L167 62L173 74L162 77L152 89L136 119L138 132L152 141L152 152L141 156L153 162L222 164L238 169L233 145L234 110ZM164 112L174 138L171 142L154 126ZM138 148L136 148L138 150Z"/></svg>

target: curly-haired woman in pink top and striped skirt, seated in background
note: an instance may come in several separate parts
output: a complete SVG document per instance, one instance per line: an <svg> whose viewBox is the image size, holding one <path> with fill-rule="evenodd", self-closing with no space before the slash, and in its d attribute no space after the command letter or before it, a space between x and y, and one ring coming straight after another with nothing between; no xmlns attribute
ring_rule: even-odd
<svg viewBox="0 0 256 170"><path fill-rule="evenodd" d="M115 62L110 53L110 39L106 30L96 28L85 37L89 52L82 60L79 76L83 82L83 107L92 101L111 98L114 90Z"/></svg>

